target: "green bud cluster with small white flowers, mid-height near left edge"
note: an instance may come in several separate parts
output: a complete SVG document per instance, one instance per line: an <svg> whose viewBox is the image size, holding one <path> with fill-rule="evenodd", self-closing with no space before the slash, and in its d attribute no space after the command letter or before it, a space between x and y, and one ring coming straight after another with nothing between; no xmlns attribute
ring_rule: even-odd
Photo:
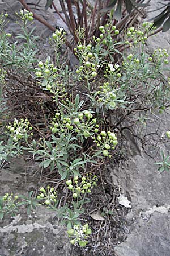
<svg viewBox="0 0 170 256"><path fill-rule="evenodd" d="M11 137L13 138L14 142L18 142L20 139L28 137L28 131L32 130L28 119L21 118L20 121L14 119L13 123L9 123L6 126L8 131L10 131ZM31 133L31 135L33 135Z"/></svg>

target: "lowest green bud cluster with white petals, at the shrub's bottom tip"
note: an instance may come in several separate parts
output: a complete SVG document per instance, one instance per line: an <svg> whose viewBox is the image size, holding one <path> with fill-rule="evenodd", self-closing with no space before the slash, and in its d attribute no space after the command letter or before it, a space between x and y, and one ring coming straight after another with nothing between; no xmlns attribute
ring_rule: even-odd
<svg viewBox="0 0 170 256"><path fill-rule="evenodd" d="M86 246L87 245L87 238L91 234L91 228L89 228L88 224L85 225L74 225L73 229L68 229L67 233L71 239L72 245L79 245L79 246Z"/></svg>

